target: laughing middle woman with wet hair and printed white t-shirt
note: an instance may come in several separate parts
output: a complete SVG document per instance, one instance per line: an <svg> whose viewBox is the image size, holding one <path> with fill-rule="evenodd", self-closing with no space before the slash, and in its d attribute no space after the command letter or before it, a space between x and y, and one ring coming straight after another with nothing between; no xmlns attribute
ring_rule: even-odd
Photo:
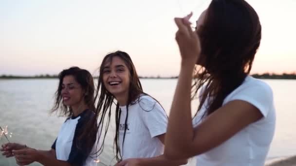
<svg viewBox="0 0 296 166"><path fill-rule="evenodd" d="M167 115L157 100L143 92L128 53L116 51L104 57L99 71L97 97L96 111L101 115L98 118L99 131L108 131L111 106L117 102L113 113L117 166L180 166L186 163L186 160L166 160L162 155ZM106 130L103 130L106 125ZM100 138L100 151L104 148L106 135L101 133L101 136L104 138Z"/></svg>

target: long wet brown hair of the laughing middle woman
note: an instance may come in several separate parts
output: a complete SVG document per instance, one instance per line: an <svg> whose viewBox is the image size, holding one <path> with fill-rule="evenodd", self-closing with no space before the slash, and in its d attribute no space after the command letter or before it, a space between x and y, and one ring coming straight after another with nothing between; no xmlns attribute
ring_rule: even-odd
<svg viewBox="0 0 296 166"><path fill-rule="evenodd" d="M148 95L143 92L143 88L140 83L140 79L138 77L135 66L133 65L132 60L129 57L128 53L118 50L115 52L111 52L104 57L102 64L100 66L97 90L96 90L96 95L95 95L95 99L98 98L98 103L97 103L97 107L96 107L95 112L97 115L100 115L100 118L98 117L99 118L99 120L98 120L99 129L98 130L102 131L103 126L105 126L104 134L100 134L100 136L99 136L99 137L101 137L101 135L104 135L104 138L101 139L102 145L99 149L100 153L104 149L105 137L106 137L106 134L107 134L107 131L109 128L110 118L111 118L111 106L114 103L114 98L115 98L106 89L106 87L103 83L103 69L104 69L105 64L108 62L111 62L114 57L119 57L120 59L122 59L124 61L124 63L126 64L126 66L129 69L129 75L130 75L129 96L128 96L127 105L126 105L127 106L127 116L125 119L125 126L127 126L127 120L128 120L128 115L129 115L129 105L132 105L135 102L137 102L137 100L139 99L141 94ZM121 110L119 108L118 103L116 103L115 105L116 105L116 107L115 107L116 133L115 133L115 138L114 138L114 146L116 148L116 160L120 161L122 159L122 155L121 155L120 149L119 149L119 122L120 122ZM104 120L105 120L106 114L107 114L107 121L106 121L106 124L104 125ZM125 139L126 130L127 130L127 128L125 127L123 142ZM103 133L103 132L100 132L100 133Z"/></svg>

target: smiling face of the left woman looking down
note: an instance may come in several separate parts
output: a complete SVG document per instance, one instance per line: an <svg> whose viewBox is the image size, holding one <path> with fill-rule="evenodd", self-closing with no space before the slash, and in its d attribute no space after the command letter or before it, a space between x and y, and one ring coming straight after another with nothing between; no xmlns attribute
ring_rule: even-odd
<svg viewBox="0 0 296 166"><path fill-rule="evenodd" d="M84 92L81 85L76 82L74 76L66 75L63 78L61 95L65 105L70 107L80 105L84 102L83 94Z"/></svg>

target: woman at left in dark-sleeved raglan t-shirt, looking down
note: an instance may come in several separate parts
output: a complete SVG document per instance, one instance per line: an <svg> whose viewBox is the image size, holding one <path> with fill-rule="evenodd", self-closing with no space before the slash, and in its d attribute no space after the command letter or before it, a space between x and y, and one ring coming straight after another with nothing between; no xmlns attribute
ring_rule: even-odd
<svg viewBox="0 0 296 166"><path fill-rule="evenodd" d="M95 166L97 123L94 83L85 69L71 67L58 75L59 84L52 112L67 119L50 150L37 150L18 143L2 145L6 157L15 156L20 166L38 162L44 166Z"/></svg>

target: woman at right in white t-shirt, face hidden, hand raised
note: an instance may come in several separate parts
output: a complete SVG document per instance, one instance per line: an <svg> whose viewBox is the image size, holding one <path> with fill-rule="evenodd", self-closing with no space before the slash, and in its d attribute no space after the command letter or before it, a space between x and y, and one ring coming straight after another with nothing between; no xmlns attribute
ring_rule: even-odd
<svg viewBox="0 0 296 166"><path fill-rule="evenodd" d="M191 16L175 18L182 60L164 155L197 156L197 166L264 166L276 115L270 86L249 76L261 39L259 17L244 0L212 0L195 31ZM200 99L193 124L192 91Z"/></svg>

